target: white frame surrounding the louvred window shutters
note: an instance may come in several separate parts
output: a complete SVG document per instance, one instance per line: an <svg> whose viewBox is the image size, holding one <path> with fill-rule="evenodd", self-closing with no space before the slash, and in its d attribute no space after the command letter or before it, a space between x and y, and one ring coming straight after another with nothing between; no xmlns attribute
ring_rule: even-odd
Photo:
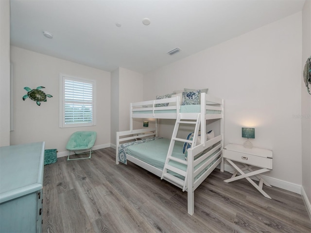
<svg viewBox="0 0 311 233"><path fill-rule="evenodd" d="M92 122L84 123L65 123L65 80L76 81L81 83L92 83ZM96 125L96 81L73 77L66 74L59 74L59 128L85 127Z"/></svg>

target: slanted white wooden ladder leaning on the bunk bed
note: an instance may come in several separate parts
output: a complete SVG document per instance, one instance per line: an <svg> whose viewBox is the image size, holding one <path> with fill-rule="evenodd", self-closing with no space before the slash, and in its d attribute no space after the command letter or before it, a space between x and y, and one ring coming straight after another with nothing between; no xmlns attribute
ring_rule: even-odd
<svg viewBox="0 0 311 233"><path fill-rule="evenodd" d="M189 121L189 120L187 121L187 120L183 120L182 114L178 114L177 119L176 119L176 123L174 126L174 130L173 130L172 139L171 139L170 146L169 146L169 151L167 152L167 156L166 156L166 160L165 160L165 164L164 164L164 168L163 168L163 172L162 172L162 176L161 176L161 179L166 178L166 180L169 180L169 181L172 181L173 183L178 184L180 187L182 187L183 191L185 191L187 189L187 171L184 171L184 170L181 170L177 167L174 167L174 166L170 165L169 162L172 160L172 161L175 161L177 163L184 164L187 166L187 170L188 170L188 162L186 160L178 159L178 158L172 156L173 148L175 145L175 141L191 143L191 148L196 146L196 140L198 137L200 122L201 122L201 116L200 115L201 114L198 114L196 121ZM180 124L195 124L192 140L187 140L187 139L176 137ZM176 176L169 174L167 172L168 170L173 171L173 172L185 177L185 180L182 180Z"/></svg>

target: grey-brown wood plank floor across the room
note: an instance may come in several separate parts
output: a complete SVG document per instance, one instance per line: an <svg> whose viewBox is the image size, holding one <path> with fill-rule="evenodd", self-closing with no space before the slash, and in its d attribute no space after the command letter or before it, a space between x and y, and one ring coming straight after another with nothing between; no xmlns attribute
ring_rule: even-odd
<svg viewBox="0 0 311 233"><path fill-rule="evenodd" d="M91 159L44 167L43 232L47 233L310 233L300 195L264 187L264 198L245 179L214 170L194 192L195 212L187 214L187 193L129 163L115 164L115 150L95 150Z"/></svg>

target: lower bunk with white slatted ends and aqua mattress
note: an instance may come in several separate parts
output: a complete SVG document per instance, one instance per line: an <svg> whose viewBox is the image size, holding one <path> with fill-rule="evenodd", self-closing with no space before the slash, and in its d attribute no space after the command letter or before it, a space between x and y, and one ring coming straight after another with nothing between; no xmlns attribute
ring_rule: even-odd
<svg viewBox="0 0 311 233"><path fill-rule="evenodd" d="M150 131L150 129L149 129ZM143 136L152 136L143 138ZM164 163L169 150L171 139L154 137L155 132L146 130L134 130L117 132L116 163L127 161L162 177ZM134 142L126 142L119 146L120 142L131 139L140 139ZM172 156L176 161L170 161L170 165L185 172L184 176L168 171L169 179L163 177L170 183L188 192L188 214L194 213L194 190L207 178L207 176L221 164L223 171L223 136L219 135L207 141L205 146L199 144L188 149L185 158L183 143L175 142ZM183 183L185 185L183 185Z"/></svg>

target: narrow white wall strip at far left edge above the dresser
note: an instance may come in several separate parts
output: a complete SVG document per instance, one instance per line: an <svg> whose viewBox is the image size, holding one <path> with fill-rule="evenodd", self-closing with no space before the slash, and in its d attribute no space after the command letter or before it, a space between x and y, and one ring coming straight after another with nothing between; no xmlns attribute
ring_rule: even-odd
<svg viewBox="0 0 311 233"><path fill-rule="evenodd" d="M0 147L10 145L10 1L0 0Z"/></svg>

